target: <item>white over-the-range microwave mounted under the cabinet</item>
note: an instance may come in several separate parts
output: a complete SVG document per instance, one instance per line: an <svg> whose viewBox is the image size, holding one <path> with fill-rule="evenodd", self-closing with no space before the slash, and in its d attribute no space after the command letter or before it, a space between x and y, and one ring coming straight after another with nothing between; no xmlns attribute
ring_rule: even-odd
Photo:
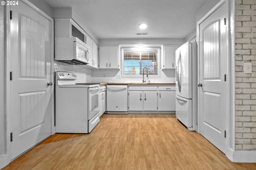
<svg viewBox="0 0 256 170"><path fill-rule="evenodd" d="M89 47L77 37L56 37L55 60L73 65L88 64Z"/></svg>

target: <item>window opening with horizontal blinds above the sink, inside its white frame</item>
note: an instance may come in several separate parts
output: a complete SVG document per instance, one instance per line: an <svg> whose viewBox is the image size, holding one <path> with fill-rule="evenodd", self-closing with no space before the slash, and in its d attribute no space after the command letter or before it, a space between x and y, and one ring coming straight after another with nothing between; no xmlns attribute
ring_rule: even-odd
<svg viewBox="0 0 256 170"><path fill-rule="evenodd" d="M143 68L148 68L149 75L158 75L158 51L124 50L124 75L142 75ZM144 74L147 74L144 69Z"/></svg>

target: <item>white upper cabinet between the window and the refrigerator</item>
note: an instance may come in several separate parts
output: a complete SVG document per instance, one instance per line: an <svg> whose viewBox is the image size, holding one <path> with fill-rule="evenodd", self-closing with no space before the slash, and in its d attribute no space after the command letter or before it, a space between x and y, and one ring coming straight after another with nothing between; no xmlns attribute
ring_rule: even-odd
<svg viewBox="0 0 256 170"><path fill-rule="evenodd" d="M178 45L163 45L161 69L175 69L175 51Z"/></svg>

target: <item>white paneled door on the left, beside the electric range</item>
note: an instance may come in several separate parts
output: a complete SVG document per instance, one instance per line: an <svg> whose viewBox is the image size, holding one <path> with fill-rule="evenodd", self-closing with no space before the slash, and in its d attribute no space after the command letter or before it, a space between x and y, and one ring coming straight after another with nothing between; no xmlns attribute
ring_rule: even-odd
<svg viewBox="0 0 256 170"><path fill-rule="evenodd" d="M19 1L11 6L11 159L51 135L51 21Z"/></svg>

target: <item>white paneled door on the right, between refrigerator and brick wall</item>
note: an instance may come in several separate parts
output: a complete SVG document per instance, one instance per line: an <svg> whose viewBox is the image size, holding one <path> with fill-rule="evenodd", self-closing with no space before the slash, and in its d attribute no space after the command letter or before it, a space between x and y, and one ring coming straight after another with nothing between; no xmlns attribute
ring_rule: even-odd
<svg viewBox="0 0 256 170"><path fill-rule="evenodd" d="M226 4L199 24L200 133L226 152ZM201 86L200 86L201 85Z"/></svg>

